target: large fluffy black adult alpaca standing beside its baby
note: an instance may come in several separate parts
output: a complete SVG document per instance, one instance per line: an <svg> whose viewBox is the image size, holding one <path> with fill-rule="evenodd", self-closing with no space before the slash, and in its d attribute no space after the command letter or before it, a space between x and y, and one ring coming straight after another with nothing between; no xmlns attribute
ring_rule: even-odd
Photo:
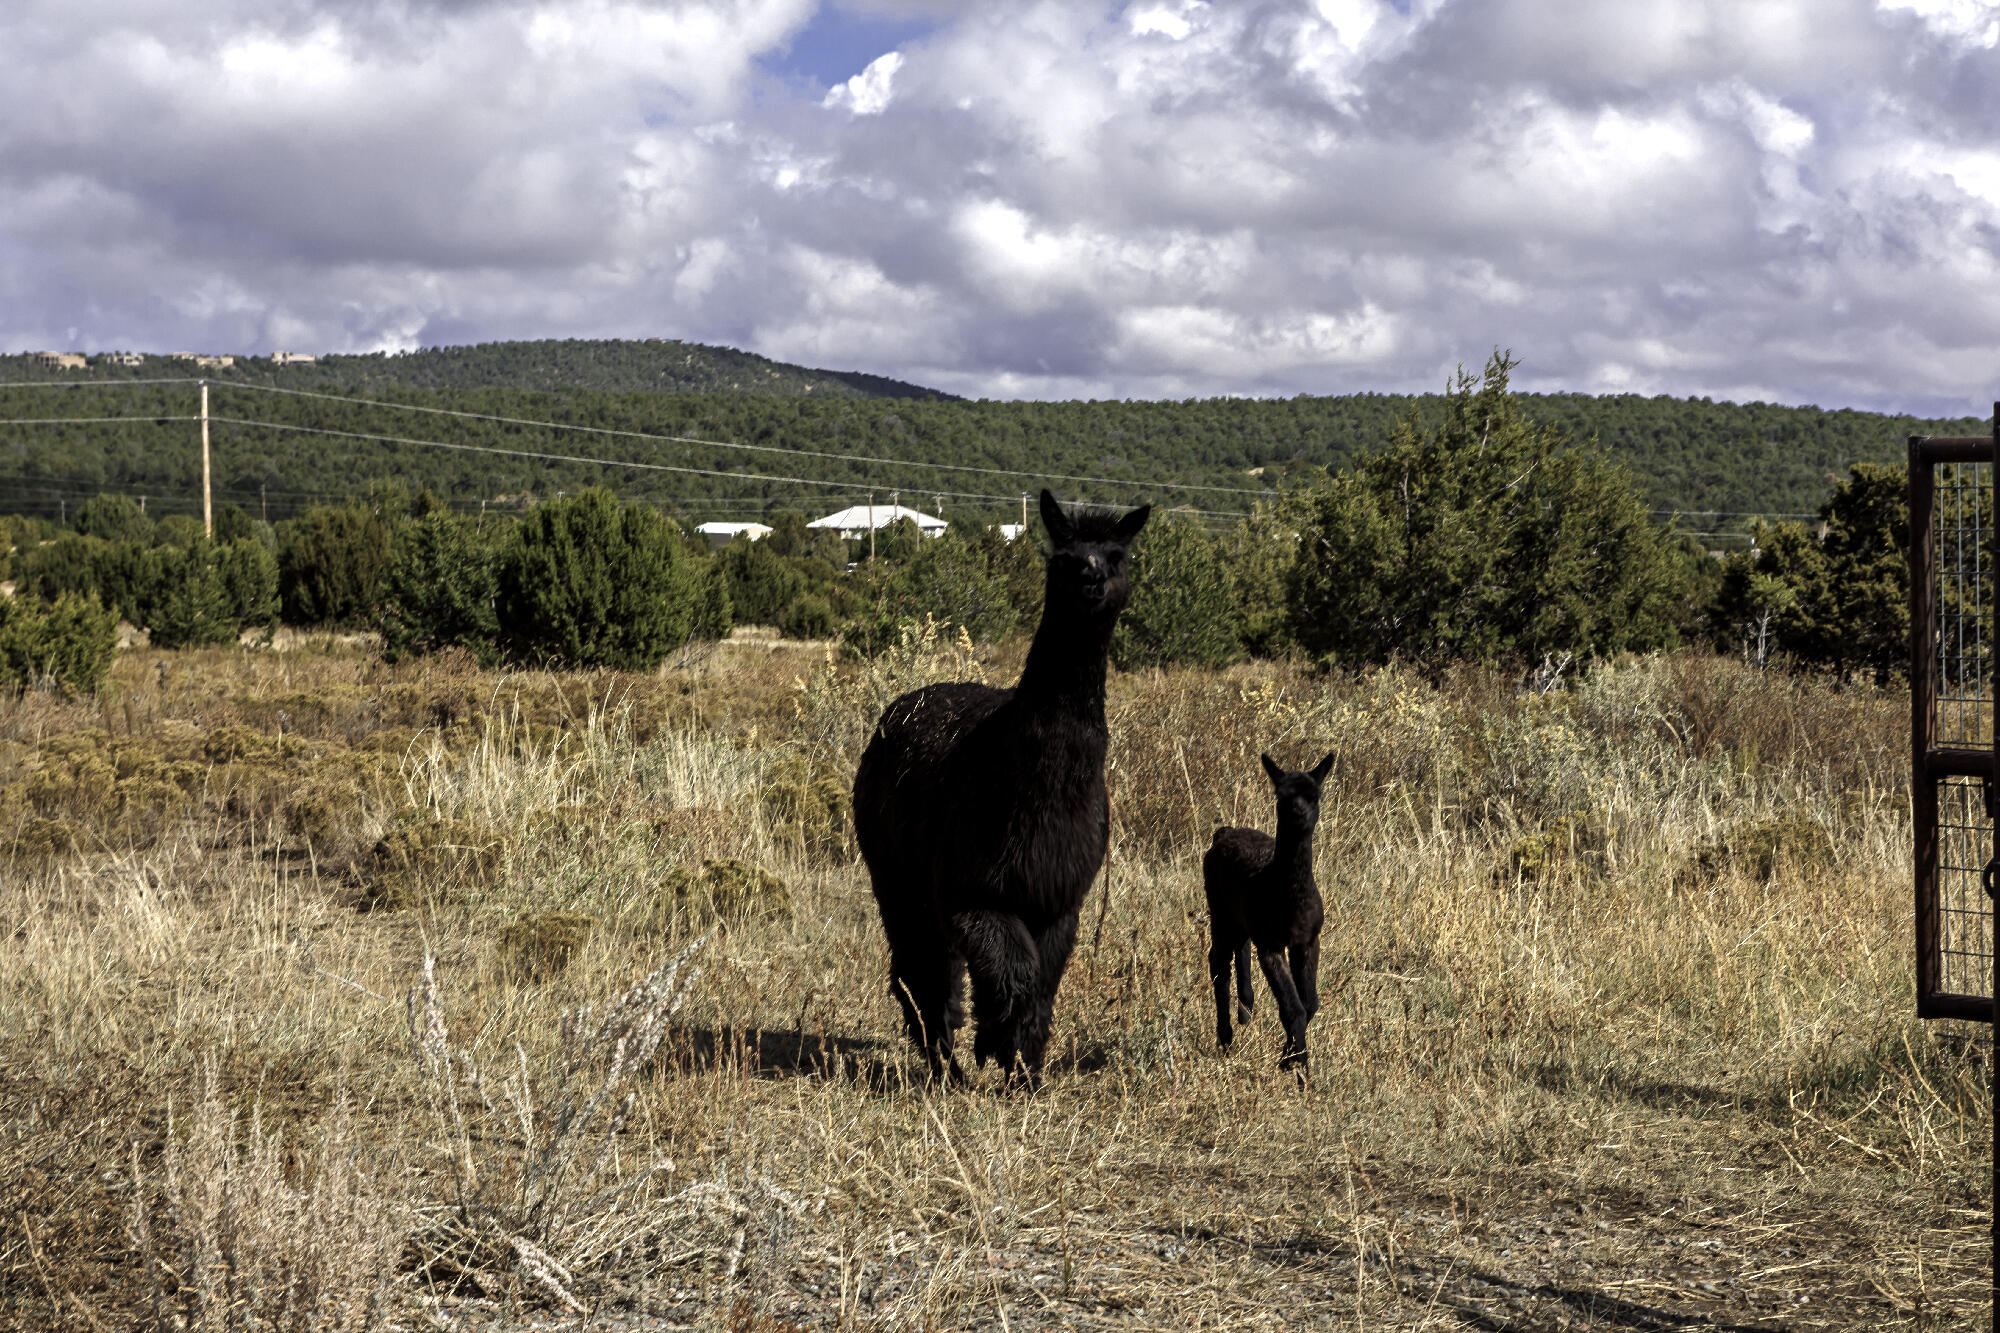
<svg viewBox="0 0 2000 1333"><path fill-rule="evenodd" d="M1048 592L1020 683L948 683L892 703L854 773L854 837L888 935L890 995L932 1077L972 973L974 1059L1036 1081L1076 913L1104 865L1104 656L1152 506L1064 514L1042 492Z"/></svg>

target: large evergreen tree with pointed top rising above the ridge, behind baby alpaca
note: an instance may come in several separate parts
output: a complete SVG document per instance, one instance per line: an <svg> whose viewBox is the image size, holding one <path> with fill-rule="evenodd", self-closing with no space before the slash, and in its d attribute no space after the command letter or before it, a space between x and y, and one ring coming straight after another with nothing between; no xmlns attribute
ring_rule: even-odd
<svg viewBox="0 0 2000 1333"><path fill-rule="evenodd" d="M1436 430L1412 416L1302 496L1288 608L1308 652L1442 666L1674 640L1664 532L1610 458L1522 416L1512 364L1460 372Z"/></svg>

